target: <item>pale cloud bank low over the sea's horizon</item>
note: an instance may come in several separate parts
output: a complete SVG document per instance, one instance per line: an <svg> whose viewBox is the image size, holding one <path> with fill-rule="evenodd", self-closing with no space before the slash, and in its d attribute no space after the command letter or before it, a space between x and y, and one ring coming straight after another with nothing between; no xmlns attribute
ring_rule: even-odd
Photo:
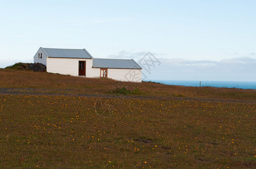
<svg viewBox="0 0 256 169"><path fill-rule="evenodd" d="M161 65L146 74L148 79L256 81L256 59L253 57L220 61L159 58L159 61Z"/></svg>

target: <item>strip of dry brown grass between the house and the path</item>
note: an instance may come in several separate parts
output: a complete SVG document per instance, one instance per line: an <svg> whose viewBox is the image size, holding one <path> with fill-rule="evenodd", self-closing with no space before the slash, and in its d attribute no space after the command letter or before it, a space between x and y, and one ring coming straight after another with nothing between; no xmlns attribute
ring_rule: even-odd
<svg viewBox="0 0 256 169"><path fill-rule="evenodd" d="M118 81L107 78L82 78L70 75L39 73L30 71L0 70L1 88L61 89L54 94L108 94L117 88ZM159 97L190 97L203 99L225 99L256 101L256 90L216 87L184 87L142 82L122 82L129 90L139 88L137 95ZM63 91L66 90L66 91ZM72 91L68 91L72 90ZM113 94L112 94L113 95Z"/></svg>

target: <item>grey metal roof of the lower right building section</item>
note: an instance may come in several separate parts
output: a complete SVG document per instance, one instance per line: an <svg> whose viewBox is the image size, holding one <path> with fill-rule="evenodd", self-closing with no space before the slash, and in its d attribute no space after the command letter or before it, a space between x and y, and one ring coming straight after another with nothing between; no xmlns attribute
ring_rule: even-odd
<svg viewBox="0 0 256 169"><path fill-rule="evenodd" d="M120 68L142 69L133 59L95 59L92 60L93 68Z"/></svg>

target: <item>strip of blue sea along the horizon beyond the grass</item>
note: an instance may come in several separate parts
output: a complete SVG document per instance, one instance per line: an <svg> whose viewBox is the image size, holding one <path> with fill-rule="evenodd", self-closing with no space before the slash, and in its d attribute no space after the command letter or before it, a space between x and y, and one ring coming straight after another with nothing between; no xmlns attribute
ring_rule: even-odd
<svg viewBox="0 0 256 169"><path fill-rule="evenodd" d="M256 90L256 82L234 82L234 81L172 81L172 80L146 80L169 85L194 86L194 87L227 87Z"/></svg>

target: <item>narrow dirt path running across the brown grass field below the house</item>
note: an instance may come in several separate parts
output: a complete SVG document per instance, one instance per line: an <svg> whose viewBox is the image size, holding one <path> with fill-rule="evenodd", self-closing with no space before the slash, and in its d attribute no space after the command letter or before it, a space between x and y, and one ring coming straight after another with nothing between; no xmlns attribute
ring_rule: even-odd
<svg viewBox="0 0 256 169"><path fill-rule="evenodd" d="M53 93L54 91L54 93ZM78 94L81 90L74 89L36 89L36 88L0 88L0 95L47 95L47 96L79 96L79 97L106 97L120 99L154 99L154 100L187 100L187 101L217 101L231 103L251 103L256 104L256 101L248 100L224 100L224 99L202 99L189 97L173 97L173 96L138 96L138 95L97 95L97 94ZM62 92L62 93L59 93ZM70 94L69 92L74 92Z"/></svg>

